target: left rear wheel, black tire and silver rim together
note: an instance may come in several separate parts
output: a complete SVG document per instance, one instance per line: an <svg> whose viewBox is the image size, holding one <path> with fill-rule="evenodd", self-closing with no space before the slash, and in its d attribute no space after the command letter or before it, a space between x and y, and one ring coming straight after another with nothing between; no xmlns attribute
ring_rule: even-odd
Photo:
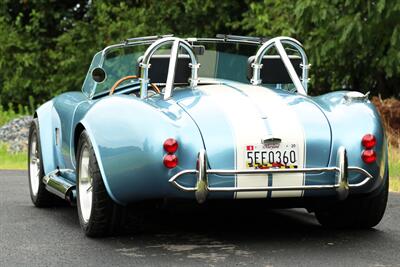
<svg viewBox="0 0 400 267"><path fill-rule="evenodd" d="M112 234L121 222L122 207L108 195L86 131L77 150L77 206L79 222L87 236Z"/></svg>

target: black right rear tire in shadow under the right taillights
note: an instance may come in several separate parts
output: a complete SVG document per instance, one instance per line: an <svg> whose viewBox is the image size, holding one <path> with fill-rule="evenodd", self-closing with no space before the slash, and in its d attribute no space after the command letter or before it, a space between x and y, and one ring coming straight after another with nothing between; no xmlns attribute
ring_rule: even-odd
<svg viewBox="0 0 400 267"><path fill-rule="evenodd" d="M381 221L385 213L388 192L389 173L387 171L383 186L372 197L347 199L327 210L317 211L315 215L319 223L328 228L371 228Z"/></svg>

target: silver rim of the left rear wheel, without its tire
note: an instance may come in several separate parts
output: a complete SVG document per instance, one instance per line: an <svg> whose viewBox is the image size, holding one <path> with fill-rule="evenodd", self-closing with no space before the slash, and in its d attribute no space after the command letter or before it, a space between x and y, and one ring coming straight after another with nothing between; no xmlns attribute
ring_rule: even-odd
<svg viewBox="0 0 400 267"><path fill-rule="evenodd" d="M92 213L93 179L89 172L89 159L89 148L84 146L79 158L78 199L82 218L85 223L89 222L89 218Z"/></svg>

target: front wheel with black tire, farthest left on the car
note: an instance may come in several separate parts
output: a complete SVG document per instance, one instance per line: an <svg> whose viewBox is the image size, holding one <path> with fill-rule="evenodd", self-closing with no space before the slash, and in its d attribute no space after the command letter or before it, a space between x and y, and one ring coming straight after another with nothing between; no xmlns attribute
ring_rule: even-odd
<svg viewBox="0 0 400 267"><path fill-rule="evenodd" d="M33 148L33 142L36 142L36 147ZM34 155L32 155L32 149ZM33 169L34 167L31 166L34 159L33 156L38 160L36 165L37 169ZM37 161L35 161L37 162ZM34 173L37 173L37 178L34 176ZM39 137L39 122L37 118L33 119L31 126L29 128L29 141L28 141L28 181L29 181L29 192L31 195L32 203L39 208L42 207L49 207L58 203L59 200L53 194L46 190L46 185L43 183L42 179L44 176L44 169L43 169L43 161L42 161L42 151L40 146L40 137ZM32 183L34 179L38 179L38 184L35 186L36 189L33 189Z"/></svg>

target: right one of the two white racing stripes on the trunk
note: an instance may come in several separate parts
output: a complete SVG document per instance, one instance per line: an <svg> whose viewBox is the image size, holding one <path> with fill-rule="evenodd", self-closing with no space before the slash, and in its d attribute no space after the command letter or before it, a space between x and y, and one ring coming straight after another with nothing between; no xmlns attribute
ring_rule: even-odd
<svg viewBox="0 0 400 267"><path fill-rule="evenodd" d="M238 86L249 98L254 101L264 113L272 136L298 145L299 168L305 166L305 135L304 129L295 112L282 98L271 90L259 86ZM303 173L273 174L272 186L302 186L304 185ZM303 191L274 191L271 197L300 197Z"/></svg>

